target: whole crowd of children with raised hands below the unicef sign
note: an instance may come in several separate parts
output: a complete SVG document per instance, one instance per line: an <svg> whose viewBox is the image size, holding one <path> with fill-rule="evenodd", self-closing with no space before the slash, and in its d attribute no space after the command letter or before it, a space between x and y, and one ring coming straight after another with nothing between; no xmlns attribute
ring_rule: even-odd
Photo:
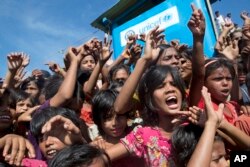
<svg viewBox="0 0 250 167"><path fill-rule="evenodd" d="M69 47L65 67L34 70L29 56L7 56L0 85L0 166L229 166L250 149L250 17L227 21L203 53L206 22L191 5L193 46L155 27L112 63L111 42ZM131 71L133 66L133 71Z"/></svg>

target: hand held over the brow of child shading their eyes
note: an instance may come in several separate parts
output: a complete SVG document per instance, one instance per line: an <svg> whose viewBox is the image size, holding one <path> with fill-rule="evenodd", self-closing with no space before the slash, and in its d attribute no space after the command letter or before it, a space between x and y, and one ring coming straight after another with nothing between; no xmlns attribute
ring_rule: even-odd
<svg viewBox="0 0 250 167"><path fill-rule="evenodd" d="M51 131L53 131L53 133L58 133L57 137L67 145L84 143L80 129L70 119L61 115L52 117L42 127L43 134Z"/></svg>

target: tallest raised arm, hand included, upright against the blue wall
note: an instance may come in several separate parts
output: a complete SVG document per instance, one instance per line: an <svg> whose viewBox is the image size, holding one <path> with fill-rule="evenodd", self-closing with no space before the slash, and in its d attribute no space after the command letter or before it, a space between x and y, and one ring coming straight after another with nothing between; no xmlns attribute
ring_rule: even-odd
<svg viewBox="0 0 250 167"><path fill-rule="evenodd" d="M203 53L203 40L205 35L205 18L200 9L191 5L193 13L188 22L188 27L193 34L193 56L192 56L192 81L190 86L190 104L197 106L201 98L201 89L204 85L205 57Z"/></svg>

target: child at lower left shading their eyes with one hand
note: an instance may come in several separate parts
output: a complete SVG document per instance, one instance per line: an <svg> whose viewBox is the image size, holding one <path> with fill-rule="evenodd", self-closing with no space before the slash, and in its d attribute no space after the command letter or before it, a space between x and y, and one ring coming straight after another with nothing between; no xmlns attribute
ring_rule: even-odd
<svg viewBox="0 0 250 167"><path fill-rule="evenodd" d="M52 159L64 147L85 143L82 126L73 110L59 107L35 113L30 122L31 133L46 160Z"/></svg>

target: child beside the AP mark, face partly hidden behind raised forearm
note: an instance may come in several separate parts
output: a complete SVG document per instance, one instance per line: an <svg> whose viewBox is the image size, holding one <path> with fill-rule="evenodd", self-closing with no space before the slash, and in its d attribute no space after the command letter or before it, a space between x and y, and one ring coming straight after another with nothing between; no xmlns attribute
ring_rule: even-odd
<svg viewBox="0 0 250 167"><path fill-rule="evenodd" d="M237 150L248 150L250 137L223 118L224 104L214 110L210 93L202 88L207 120L201 125L189 124L177 127L172 135L172 147L177 167L228 167L224 142L217 129L228 135L237 145ZM197 119L197 118L196 118ZM217 131L218 132L218 131Z"/></svg>

